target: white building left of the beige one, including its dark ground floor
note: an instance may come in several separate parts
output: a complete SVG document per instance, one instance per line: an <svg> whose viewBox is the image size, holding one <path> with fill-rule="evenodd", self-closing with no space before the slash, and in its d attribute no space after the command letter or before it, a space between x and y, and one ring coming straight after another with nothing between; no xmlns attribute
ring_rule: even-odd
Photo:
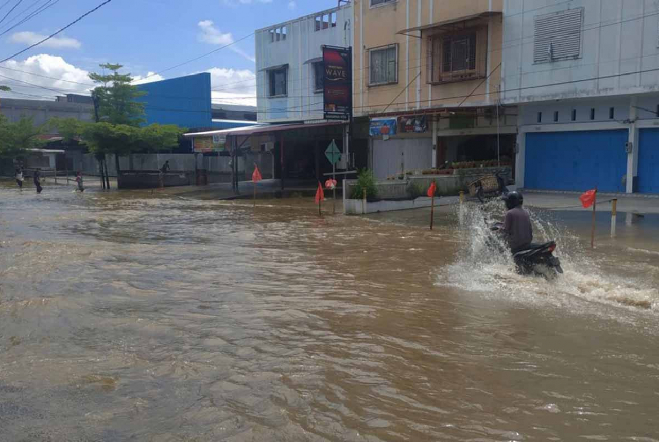
<svg viewBox="0 0 659 442"><path fill-rule="evenodd" d="M348 153L347 121L325 119L323 46L353 45L353 3L341 0L337 7L256 30L254 38L258 122L278 126L270 136L279 157L275 176L320 180L332 170L324 155L332 140ZM360 149L353 142L341 168L356 151L365 151L362 144Z"/></svg>

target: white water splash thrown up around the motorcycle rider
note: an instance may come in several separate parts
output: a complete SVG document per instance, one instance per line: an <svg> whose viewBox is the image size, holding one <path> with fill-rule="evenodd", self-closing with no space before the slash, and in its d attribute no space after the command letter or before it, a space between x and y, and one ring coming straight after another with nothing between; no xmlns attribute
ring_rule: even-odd
<svg viewBox="0 0 659 442"><path fill-rule="evenodd" d="M527 210L529 210L527 208ZM490 226L503 217L500 201L464 204L457 209L459 230L465 247L454 262L439 269L436 285L476 291L487 297L506 297L523 303L550 303L557 307L583 307L605 303L634 310L659 308L659 289L638 278L612 274L588 256L579 238L554 214L530 209L534 241L556 241L556 256L565 274L548 282L539 276L517 274L503 239ZM586 306L586 307L585 307Z"/></svg>

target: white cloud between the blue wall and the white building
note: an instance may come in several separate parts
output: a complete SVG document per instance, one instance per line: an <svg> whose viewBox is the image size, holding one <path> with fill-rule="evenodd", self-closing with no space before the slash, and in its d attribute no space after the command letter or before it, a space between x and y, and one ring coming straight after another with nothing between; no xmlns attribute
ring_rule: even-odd
<svg viewBox="0 0 659 442"><path fill-rule="evenodd" d="M251 70L212 68L211 95L214 103L256 106L256 74Z"/></svg>

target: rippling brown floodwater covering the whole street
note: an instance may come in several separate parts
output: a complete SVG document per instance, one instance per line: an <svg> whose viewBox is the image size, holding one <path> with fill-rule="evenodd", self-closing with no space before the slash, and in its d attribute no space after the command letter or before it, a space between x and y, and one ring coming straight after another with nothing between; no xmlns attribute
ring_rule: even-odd
<svg viewBox="0 0 659 442"><path fill-rule="evenodd" d="M659 441L657 237L482 215L1 183L0 441Z"/></svg>

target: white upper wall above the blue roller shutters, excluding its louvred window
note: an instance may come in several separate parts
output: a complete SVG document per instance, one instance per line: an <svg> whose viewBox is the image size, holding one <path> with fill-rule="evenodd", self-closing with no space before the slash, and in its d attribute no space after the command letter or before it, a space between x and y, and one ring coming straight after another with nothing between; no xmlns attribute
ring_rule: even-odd
<svg viewBox="0 0 659 442"><path fill-rule="evenodd" d="M581 57L534 63L534 17L578 7ZM505 0L503 20L504 103L659 91L655 0Z"/></svg>

